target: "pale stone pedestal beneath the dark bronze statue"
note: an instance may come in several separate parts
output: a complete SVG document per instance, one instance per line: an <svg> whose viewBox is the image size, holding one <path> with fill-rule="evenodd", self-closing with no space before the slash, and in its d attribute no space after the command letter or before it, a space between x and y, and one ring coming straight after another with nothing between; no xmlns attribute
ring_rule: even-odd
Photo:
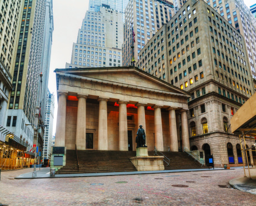
<svg viewBox="0 0 256 206"><path fill-rule="evenodd" d="M147 147L136 149L136 157L130 158L138 171L164 170L163 156L149 156Z"/></svg>

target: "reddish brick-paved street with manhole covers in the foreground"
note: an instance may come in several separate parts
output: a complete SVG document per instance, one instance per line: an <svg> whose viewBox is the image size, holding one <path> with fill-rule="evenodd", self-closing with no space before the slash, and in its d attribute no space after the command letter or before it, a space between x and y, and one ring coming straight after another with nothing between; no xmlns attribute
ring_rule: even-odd
<svg viewBox="0 0 256 206"><path fill-rule="evenodd" d="M2 172L0 203L8 205L256 204L254 194L218 187L218 184L227 185L230 179L243 176L242 169L112 177L13 179L32 170L29 168ZM91 185L93 183L103 185ZM188 185L188 187L172 187L174 184Z"/></svg>

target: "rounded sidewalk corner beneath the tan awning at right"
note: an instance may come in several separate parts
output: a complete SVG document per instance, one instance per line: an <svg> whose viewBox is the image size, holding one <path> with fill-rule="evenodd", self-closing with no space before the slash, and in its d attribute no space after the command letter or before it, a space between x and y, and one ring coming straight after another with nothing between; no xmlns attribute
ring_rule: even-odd
<svg viewBox="0 0 256 206"><path fill-rule="evenodd" d="M239 177L229 181L229 184L243 192L248 192L256 194L256 168L250 168L250 177L249 179L248 169L245 169L247 177Z"/></svg>

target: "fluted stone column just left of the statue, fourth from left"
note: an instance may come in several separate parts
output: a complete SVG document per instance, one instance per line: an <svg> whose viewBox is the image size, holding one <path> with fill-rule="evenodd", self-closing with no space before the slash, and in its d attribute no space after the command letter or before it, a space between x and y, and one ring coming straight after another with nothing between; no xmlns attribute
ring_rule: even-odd
<svg viewBox="0 0 256 206"><path fill-rule="evenodd" d="M119 150L128 151L127 102L119 101Z"/></svg>

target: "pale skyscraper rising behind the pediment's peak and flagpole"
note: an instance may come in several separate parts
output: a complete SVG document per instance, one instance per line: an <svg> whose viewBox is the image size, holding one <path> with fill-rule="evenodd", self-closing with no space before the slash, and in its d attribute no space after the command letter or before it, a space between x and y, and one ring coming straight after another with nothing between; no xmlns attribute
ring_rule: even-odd
<svg viewBox="0 0 256 206"><path fill-rule="evenodd" d="M138 60L140 50L158 29L174 16L174 13L173 3L168 1L129 1L125 11L123 66L132 65L133 52L135 61ZM132 29L135 33L135 42L133 42Z"/></svg>

